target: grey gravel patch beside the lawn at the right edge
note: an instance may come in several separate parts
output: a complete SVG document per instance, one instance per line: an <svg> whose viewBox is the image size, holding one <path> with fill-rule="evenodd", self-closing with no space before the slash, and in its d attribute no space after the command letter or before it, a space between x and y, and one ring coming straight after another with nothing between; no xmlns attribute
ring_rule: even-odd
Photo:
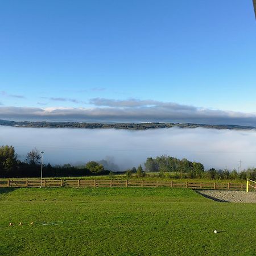
<svg viewBox="0 0 256 256"><path fill-rule="evenodd" d="M201 190L197 191L197 193L220 202L256 203L256 192Z"/></svg>

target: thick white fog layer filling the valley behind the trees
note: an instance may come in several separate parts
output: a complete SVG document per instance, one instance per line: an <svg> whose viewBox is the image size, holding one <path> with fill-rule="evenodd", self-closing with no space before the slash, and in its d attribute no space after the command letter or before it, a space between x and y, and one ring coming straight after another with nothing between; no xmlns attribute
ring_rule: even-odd
<svg viewBox="0 0 256 256"><path fill-rule="evenodd" d="M107 160L119 170L143 164L147 157L167 154L201 162L205 168L256 166L256 132L215 129L47 129L0 126L0 145L15 147L23 160L36 147L44 163L84 164ZM115 168L117 170L117 167Z"/></svg>

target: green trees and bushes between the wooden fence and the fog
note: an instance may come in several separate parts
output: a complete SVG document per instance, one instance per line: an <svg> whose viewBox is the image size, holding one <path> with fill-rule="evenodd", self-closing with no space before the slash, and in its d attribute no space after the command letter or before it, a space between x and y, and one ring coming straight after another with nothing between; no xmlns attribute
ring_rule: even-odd
<svg viewBox="0 0 256 256"><path fill-rule="evenodd" d="M156 158L147 158L144 163L144 169L140 165L123 172L113 172L105 170L104 162L89 161L84 166L71 166L63 164L52 166L50 163L43 164L44 177L64 177L64 176L95 176L123 174L127 178L131 176L146 177L147 172L155 172L158 177L172 178L207 178L207 179L256 179L256 168L237 172L216 170L210 168L205 170L203 164L191 162L188 159L177 159L172 156L162 155ZM168 174L174 175L168 175ZM24 162L17 159L13 146L0 147L0 177L40 177L41 174L41 155L34 148L27 153Z"/></svg>

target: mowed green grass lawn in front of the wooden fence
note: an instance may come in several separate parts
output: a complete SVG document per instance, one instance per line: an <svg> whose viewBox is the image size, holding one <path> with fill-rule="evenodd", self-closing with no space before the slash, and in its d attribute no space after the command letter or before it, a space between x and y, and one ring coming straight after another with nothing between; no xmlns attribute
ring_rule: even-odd
<svg viewBox="0 0 256 256"><path fill-rule="evenodd" d="M191 189L1 188L0 211L1 255L256 255L256 204Z"/></svg>

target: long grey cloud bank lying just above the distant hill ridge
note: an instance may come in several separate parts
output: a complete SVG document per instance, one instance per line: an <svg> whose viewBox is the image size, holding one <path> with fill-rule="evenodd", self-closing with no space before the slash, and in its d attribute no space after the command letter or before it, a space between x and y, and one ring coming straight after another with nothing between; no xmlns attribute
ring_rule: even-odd
<svg viewBox="0 0 256 256"><path fill-rule="evenodd" d="M58 98L60 100L60 98ZM154 100L93 98L90 108L1 106L0 118L77 122L189 122L256 126L256 113L197 108Z"/></svg>

